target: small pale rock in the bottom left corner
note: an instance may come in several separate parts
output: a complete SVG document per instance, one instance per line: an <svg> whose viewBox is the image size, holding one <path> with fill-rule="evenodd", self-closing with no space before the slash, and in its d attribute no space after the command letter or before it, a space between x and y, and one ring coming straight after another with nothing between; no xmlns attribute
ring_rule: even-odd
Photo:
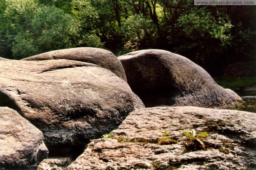
<svg viewBox="0 0 256 170"><path fill-rule="evenodd" d="M0 169L35 169L47 156L43 133L15 110L0 107Z"/></svg>

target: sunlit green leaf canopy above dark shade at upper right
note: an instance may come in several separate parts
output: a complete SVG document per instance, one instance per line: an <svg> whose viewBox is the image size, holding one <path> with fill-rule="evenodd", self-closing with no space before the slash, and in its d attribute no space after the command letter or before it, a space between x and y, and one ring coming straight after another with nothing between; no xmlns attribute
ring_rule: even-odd
<svg viewBox="0 0 256 170"><path fill-rule="evenodd" d="M189 14L183 14L177 20L176 26L181 27L185 35L192 40L211 37L219 40L221 46L230 44L233 25L226 14L217 11L217 16L205 7L192 8Z"/></svg>

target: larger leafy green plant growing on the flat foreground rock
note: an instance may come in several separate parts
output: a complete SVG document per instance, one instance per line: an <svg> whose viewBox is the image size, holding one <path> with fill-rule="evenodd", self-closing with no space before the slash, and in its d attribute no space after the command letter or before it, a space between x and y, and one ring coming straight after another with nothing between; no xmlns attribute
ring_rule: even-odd
<svg viewBox="0 0 256 170"><path fill-rule="evenodd" d="M207 132L202 132L199 135L196 135L196 132L194 129L189 128L188 129L190 133L183 132L184 135L189 137L189 141L186 143L186 147L189 150L199 150L199 149L205 149L204 141L201 140L201 138L204 138L207 136Z"/></svg>

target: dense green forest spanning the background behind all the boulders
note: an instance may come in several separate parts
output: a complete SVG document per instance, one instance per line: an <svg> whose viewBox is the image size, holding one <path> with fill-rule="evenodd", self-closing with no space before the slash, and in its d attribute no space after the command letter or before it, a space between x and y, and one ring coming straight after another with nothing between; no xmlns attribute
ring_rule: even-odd
<svg viewBox="0 0 256 170"><path fill-rule="evenodd" d="M256 59L256 6L193 0L0 0L0 57L90 46L119 56L164 49L221 74Z"/></svg>

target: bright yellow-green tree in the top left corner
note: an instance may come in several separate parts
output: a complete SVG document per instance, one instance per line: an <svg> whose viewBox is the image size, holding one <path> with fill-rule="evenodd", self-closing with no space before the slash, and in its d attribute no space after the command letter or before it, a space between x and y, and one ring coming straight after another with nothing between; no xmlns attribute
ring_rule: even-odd
<svg viewBox="0 0 256 170"><path fill-rule="evenodd" d="M1 1L0 52L3 57L12 58L15 36L31 28L36 9L37 4L33 0Z"/></svg>

